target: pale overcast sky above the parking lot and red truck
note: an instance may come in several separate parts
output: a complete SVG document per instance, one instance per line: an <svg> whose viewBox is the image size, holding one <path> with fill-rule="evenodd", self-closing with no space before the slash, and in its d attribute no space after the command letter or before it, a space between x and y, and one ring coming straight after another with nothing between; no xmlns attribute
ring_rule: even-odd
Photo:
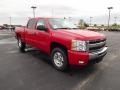
<svg viewBox="0 0 120 90"><path fill-rule="evenodd" d="M33 17L31 6L36 6L36 17L73 17L92 23L107 24L108 9L112 6L111 23L114 17L120 23L120 0L0 0L0 24L25 25Z"/></svg>

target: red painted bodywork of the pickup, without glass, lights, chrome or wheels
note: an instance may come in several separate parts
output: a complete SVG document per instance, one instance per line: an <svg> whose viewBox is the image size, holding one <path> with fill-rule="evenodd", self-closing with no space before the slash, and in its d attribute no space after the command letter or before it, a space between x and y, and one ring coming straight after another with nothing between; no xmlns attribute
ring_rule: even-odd
<svg viewBox="0 0 120 90"><path fill-rule="evenodd" d="M46 26L48 30L38 31L36 30L36 22L39 19L44 19L46 21ZM52 42L59 43L65 46L68 50L68 62L72 65L79 65L78 61L84 61L86 65L89 61L88 52L75 52L71 50L71 40L96 40L106 38L103 34L88 31L88 30L52 30L50 28L48 18L35 18L34 30L30 30L27 27L17 27L16 35L20 35L22 40L30 44L33 47L36 47L50 55L50 45Z"/></svg>

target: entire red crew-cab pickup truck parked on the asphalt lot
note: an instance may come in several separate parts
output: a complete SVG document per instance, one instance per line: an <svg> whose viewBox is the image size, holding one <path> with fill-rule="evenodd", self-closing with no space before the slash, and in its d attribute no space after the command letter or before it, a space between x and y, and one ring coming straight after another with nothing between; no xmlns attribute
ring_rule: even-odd
<svg viewBox="0 0 120 90"><path fill-rule="evenodd" d="M15 32L20 51L24 52L26 45L38 48L50 55L53 66L62 71L69 65L99 62L107 53L103 34L80 30L63 18L32 18Z"/></svg>

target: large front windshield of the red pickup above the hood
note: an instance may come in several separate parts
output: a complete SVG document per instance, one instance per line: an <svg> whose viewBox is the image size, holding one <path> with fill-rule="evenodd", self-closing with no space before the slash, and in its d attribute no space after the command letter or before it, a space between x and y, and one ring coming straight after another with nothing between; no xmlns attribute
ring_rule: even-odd
<svg viewBox="0 0 120 90"><path fill-rule="evenodd" d="M78 29L72 22L62 18L49 19L49 23L53 29Z"/></svg>

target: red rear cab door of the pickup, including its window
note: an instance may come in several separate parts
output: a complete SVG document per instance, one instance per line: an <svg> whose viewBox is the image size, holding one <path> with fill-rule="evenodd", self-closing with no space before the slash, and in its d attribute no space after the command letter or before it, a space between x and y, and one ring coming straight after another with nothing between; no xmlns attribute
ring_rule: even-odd
<svg viewBox="0 0 120 90"><path fill-rule="evenodd" d="M34 46L35 45L35 19L30 19L25 29L26 43Z"/></svg>

